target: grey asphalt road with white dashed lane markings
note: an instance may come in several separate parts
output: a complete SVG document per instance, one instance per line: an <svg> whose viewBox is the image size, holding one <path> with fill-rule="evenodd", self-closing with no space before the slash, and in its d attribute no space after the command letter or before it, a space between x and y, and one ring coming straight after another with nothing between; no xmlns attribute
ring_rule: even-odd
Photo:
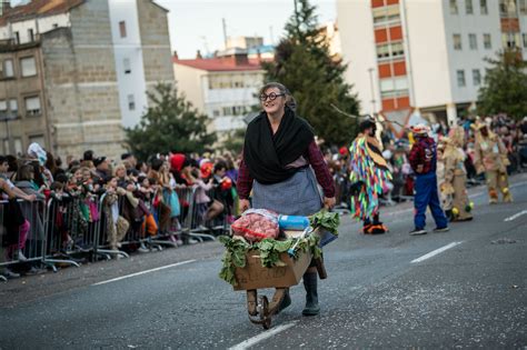
<svg viewBox="0 0 527 350"><path fill-rule="evenodd" d="M0 349L525 348L527 176L511 182L511 204L471 189L475 220L445 233L408 236L410 203L382 211L387 234L345 218L318 317L299 286L270 331L250 323L213 242L2 283Z"/></svg>

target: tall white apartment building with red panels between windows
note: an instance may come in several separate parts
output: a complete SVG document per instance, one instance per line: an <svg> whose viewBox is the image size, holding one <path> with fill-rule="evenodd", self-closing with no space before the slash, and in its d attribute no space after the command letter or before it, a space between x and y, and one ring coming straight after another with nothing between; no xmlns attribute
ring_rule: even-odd
<svg viewBox="0 0 527 350"><path fill-rule="evenodd" d="M527 0L337 0L347 80L364 113L453 124L475 108L486 58L527 58Z"/></svg>

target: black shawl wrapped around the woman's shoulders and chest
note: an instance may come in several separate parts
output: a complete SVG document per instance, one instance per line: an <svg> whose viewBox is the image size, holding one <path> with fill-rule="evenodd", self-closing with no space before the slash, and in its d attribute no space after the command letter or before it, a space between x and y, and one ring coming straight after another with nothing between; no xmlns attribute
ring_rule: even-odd
<svg viewBox="0 0 527 350"><path fill-rule="evenodd" d="M247 127L243 161L258 182L278 183L295 174L297 169L286 166L305 154L314 138L311 126L288 107L275 134L267 113L261 112Z"/></svg>

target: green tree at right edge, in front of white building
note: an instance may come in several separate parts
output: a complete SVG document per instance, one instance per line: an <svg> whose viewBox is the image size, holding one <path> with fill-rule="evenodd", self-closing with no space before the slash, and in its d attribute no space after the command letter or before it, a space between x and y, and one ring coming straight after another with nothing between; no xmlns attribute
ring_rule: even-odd
<svg viewBox="0 0 527 350"><path fill-rule="evenodd" d="M507 50L487 61L490 68L478 92L478 113L507 113L516 120L527 116L527 62L521 51Z"/></svg>

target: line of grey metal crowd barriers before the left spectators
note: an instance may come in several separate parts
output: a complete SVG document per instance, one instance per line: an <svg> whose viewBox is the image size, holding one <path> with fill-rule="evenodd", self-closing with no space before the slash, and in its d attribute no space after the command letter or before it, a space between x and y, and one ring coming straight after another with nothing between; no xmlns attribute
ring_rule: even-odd
<svg viewBox="0 0 527 350"><path fill-rule="evenodd" d="M18 226L10 220L10 201L0 200L0 269L22 262L41 262L53 270L57 263L79 267L77 256L89 254L91 261L97 261L99 257L128 257L120 248L132 250L131 246L145 243L150 249L162 250L162 246L177 247L177 243L170 240L173 234L202 242L216 240L215 234L211 234L215 230L223 232L228 229L227 211L232 208L228 208L227 203L226 212L219 218L205 220L196 203L196 188L177 188L175 191L180 206L177 220L172 220L173 217L167 219L167 212L161 212L161 206L155 208L152 202L145 202L147 211L156 218L157 229L147 224L147 217L127 218L132 222L129 222L128 231L118 243L117 250L112 249L108 241L106 193L88 197L52 194L48 202L16 200L24 218ZM215 198L212 191L208 194ZM125 216L126 201L125 196L120 197L120 216ZM168 214L170 217L171 212ZM6 278L0 274L0 280Z"/></svg>

